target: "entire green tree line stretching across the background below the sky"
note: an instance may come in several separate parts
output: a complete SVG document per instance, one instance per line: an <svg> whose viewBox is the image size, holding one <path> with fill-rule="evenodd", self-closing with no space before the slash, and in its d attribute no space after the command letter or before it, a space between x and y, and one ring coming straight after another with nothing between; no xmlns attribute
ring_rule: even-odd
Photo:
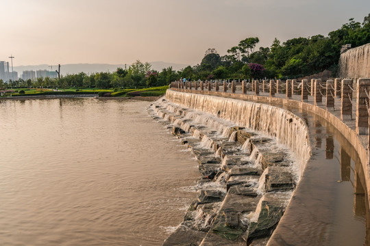
<svg viewBox="0 0 370 246"><path fill-rule="evenodd" d="M370 14L362 23L350 18L341 28L331 31L328 37L316 35L309 38L293 38L281 44L273 41L270 47L255 51L259 38L245 38L238 45L219 55L216 49L208 49L200 64L175 71L172 67L162 71L151 69L148 62L136 61L128 69L117 68L114 72L95 74L67 74L60 79L38 78L3 83L4 87L98 87L138 88L168 85L171 81L206 79L290 78L338 69L341 47L351 44L352 48L370 42Z"/></svg>

